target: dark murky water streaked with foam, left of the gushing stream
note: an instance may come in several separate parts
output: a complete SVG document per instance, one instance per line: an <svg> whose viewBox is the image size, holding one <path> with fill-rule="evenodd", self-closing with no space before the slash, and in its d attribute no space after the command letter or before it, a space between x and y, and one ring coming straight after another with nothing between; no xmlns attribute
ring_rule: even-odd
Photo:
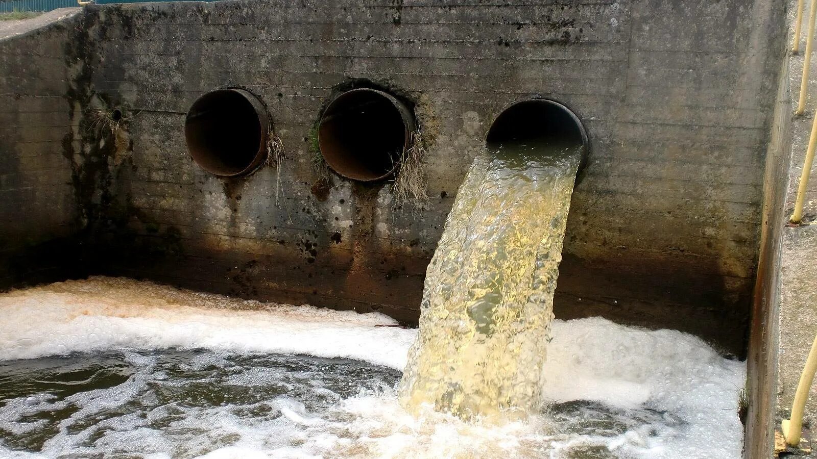
<svg viewBox="0 0 817 459"><path fill-rule="evenodd" d="M15 360L0 363L0 439L48 456L197 457L248 429L297 426L350 396L384 394L398 377L355 360L207 350Z"/></svg>

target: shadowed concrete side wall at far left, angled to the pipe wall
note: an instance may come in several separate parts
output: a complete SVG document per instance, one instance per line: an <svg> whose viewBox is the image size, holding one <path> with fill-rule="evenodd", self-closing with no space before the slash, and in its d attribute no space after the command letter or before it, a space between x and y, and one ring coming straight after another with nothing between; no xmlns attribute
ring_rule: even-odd
<svg viewBox="0 0 817 459"><path fill-rule="evenodd" d="M35 20L41 29L0 29L0 287L69 275L69 240L82 226L72 180L78 106L66 99L76 12L52 11Z"/></svg>

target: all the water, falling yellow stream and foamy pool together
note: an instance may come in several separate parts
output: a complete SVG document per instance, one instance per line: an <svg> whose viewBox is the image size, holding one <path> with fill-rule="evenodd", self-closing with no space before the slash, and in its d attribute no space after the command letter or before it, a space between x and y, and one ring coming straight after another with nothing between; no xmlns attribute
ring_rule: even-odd
<svg viewBox="0 0 817 459"><path fill-rule="evenodd" d="M0 294L0 457L741 457L745 363L553 319L578 154L548 148L475 158L419 331L132 279Z"/></svg>

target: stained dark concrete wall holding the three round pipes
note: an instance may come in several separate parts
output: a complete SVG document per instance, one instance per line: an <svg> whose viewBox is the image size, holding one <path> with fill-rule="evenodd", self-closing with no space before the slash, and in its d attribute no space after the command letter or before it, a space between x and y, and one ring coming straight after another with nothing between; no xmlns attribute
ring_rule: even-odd
<svg viewBox="0 0 817 459"><path fill-rule="evenodd" d="M591 140L556 315L680 328L743 354L784 38L784 5L767 3L87 7L78 100L129 117L126 141L83 134L105 165L96 194L107 198L88 223L105 253L96 266L411 322L491 121L537 94L573 109ZM342 87L372 84L358 78L413 103L432 140L421 212L395 211L388 184L316 180L310 129ZM186 154L186 110L231 86L266 103L288 155L278 170L222 180Z"/></svg>

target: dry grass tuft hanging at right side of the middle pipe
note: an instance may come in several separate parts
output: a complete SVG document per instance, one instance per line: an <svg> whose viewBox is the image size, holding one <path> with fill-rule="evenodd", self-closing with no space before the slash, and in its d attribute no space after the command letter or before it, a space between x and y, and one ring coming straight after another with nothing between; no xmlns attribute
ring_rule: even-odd
<svg viewBox="0 0 817 459"><path fill-rule="evenodd" d="M396 207L410 204L415 210L419 210L428 201L426 154L426 145L418 128L411 134L410 146L400 155L400 169L395 176L394 185L391 186Z"/></svg>

